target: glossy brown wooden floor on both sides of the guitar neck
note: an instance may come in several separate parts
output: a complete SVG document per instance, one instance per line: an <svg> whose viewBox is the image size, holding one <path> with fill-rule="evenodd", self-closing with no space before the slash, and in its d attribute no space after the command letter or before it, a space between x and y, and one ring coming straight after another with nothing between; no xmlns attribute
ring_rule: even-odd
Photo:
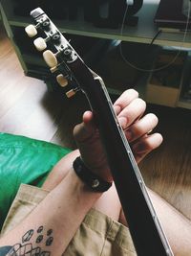
<svg viewBox="0 0 191 256"><path fill-rule="evenodd" d="M48 92L43 81L26 77L0 30L0 131L74 149L73 128L87 108L81 96L65 100ZM150 105L164 137L159 150L140 169L146 184L191 219L191 111Z"/></svg>

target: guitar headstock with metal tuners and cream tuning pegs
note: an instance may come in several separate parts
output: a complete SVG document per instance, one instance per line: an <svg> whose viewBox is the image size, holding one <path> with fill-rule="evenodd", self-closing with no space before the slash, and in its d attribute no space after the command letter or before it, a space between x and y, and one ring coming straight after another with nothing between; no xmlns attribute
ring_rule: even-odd
<svg viewBox="0 0 191 256"><path fill-rule="evenodd" d="M34 38L35 48L42 52L43 58L58 84L62 87L67 86L69 82L74 84L73 88L66 93L70 98L80 87L69 66L77 59L83 60L79 58L69 41L59 32L45 12L37 8L31 12L31 16L34 25L30 24L25 31L29 37Z"/></svg>

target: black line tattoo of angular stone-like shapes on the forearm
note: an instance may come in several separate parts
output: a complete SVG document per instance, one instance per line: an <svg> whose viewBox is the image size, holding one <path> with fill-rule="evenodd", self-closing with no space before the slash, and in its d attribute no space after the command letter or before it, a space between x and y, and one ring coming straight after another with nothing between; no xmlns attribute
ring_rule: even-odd
<svg viewBox="0 0 191 256"><path fill-rule="evenodd" d="M44 234L45 233L45 234ZM36 238L34 238L36 236ZM30 243L34 238L37 246ZM0 247L0 256L50 256L51 252L42 250L40 244L51 246L53 244L53 229L45 232L43 226L39 226L37 230L30 229L22 237L22 244L6 245Z"/></svg>

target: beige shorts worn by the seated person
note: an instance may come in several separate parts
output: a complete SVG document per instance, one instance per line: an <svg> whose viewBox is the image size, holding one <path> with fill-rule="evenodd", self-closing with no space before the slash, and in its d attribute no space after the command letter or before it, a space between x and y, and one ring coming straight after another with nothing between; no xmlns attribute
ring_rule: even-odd
<svg viewBox="0 0 191 256"><path fill-rule="evenodd" d="M10 231L32 212L49 192L22 184L14 199L2 234ZM64 256L135 256L127 227L91 209L81 223Z"/></svg>

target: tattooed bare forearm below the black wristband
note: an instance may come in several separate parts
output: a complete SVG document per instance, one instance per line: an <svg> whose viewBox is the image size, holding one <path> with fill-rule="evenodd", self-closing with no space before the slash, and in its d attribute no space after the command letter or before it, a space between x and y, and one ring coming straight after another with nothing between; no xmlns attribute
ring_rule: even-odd
<svg viewBox="0 0 191 256"><path fill-rule="evenodd" d="M61 255L100 195L89 191L71 170L22 223L0 240L0 247L32 244L32 248L39 246L41 251L50 252L49 255ZM43 228L41 234L37 233L39 227ZM32 238L23 243L23 236L30 230ZM52 232L49 243L36 243L39 235L48 238L48 231Z"/></svg>

